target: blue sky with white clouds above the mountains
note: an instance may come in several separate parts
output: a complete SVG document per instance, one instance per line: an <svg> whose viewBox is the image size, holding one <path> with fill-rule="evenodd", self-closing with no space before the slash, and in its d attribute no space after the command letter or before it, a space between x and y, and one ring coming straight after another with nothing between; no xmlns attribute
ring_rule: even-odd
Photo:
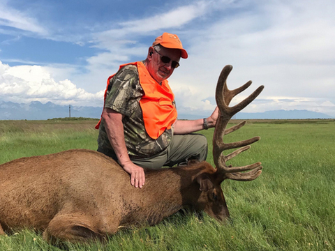
<svg viewBox="0 0 335 251"><path fill-rule="evenodd" d="M103 106L107 77L146 58L163 32L188 52L169 84L179 114L210 114L218 75L243 112L306 109L335 117L334 0L0 0L1 102Z"/></svg>

